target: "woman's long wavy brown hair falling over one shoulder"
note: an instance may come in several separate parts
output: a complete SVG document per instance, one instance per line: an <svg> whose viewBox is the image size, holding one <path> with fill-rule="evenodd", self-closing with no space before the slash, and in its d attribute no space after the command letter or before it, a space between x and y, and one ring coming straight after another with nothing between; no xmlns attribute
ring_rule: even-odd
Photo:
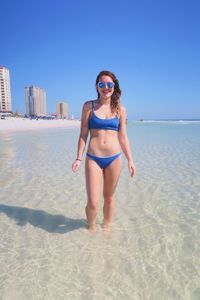
<svg viewBox="0 0 200 300"><path fill-rule="evenodd" d="M100 94L98 92L98 89L97 89L97 84L99 82L99 79L101 76L109 76L112 78L113 82L114 82L114 92L111 96L111 111L112 112L116 112L117 114L120 113L120 96L122 94L122 91L119 87L119 81L117 79L117 77L115 76L115 74L113 74L112 72L110 71L101 71L98 76L97 76L97 79L96 79L96 90L97 90L97 94L98 94L98 98L100 97Z"/></svg>

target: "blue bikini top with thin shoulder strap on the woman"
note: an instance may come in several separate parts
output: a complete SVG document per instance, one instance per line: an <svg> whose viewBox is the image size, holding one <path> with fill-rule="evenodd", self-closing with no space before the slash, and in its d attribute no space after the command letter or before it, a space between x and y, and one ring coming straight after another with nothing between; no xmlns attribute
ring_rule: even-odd
<svg viewBox="0 0 200 300"><path fill-rule="evenodd" d="M92 116L88 122L89 129L106 129L119 131L119 118L116 115L114 118L102 119L97 117L94 112L94 101L92 102Z"/></svg>

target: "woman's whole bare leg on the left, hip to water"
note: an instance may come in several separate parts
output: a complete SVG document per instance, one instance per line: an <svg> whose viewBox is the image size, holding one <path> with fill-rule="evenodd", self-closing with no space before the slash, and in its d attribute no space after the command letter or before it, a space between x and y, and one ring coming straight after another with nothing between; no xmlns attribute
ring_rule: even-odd
<svg viewBox="0 0 200 300"><path fill-rule="evenodd" d="M96 226L96 216L99 207L99 196L101 190L102 169L92 159L86 158L85 177L87 189L87 206L85 208L88 227L93 230Z"/></svg>

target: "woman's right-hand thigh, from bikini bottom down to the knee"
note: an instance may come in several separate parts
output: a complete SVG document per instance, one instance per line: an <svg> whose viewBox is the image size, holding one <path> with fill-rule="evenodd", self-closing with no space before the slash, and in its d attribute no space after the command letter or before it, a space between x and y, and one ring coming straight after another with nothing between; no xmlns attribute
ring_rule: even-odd
<svg viewBox="0 0 200 300"><path fill-rule="evenodd" d="M122 158L120 155L107 168L104 169L104 196L111 197L114 195L121 172L121 167Z"/></svg>

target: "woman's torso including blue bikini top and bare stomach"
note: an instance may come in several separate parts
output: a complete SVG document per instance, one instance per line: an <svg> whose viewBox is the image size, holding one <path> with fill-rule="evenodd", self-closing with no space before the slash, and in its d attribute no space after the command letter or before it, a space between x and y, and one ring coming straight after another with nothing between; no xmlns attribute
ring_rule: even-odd
<svg viewBox="0 0 200 300"><path fill-rule="evenodd" d="M116 114L111 116L111 113L98 108L96 102L91 102L91 113L88 121L90 141L87 152L99 157L112 156L120 152L119 118ZM103 117L105 115L106 118Z"/></svg>

